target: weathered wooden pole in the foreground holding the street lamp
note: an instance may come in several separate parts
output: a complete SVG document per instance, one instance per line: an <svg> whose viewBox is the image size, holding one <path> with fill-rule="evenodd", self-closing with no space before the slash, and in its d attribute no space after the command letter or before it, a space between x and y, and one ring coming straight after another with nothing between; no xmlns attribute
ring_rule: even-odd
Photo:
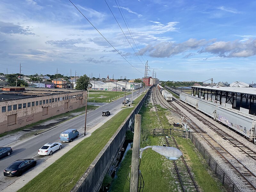
<svg viewBox="0 0 256 192"><path fill-rule="evenodd" d="M130 192L138 192L141 115L135 115Z"/></svg>

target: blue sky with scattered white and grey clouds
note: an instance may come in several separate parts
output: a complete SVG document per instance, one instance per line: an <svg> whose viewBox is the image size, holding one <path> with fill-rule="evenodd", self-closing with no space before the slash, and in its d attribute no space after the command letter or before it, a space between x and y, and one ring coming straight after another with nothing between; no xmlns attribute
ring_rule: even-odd
<svg viewBox="0 0 256 192"><path fill-rule="evenodd" d="M1 0L0 72L134 79L148 61L160 81L252 83L255 10L251 0Z"/></svg>

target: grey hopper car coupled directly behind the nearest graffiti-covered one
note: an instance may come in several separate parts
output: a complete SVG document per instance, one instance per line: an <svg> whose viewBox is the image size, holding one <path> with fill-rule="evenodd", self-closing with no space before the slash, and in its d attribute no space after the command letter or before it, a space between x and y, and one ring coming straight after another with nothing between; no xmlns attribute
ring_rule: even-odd
<svg viewBox="0 0 256 192"><path fill-rule="evenodd" d="M211 116L213 119L215 119L216 115L216 108L219 105L210 101L206 101L203 99L198 100L197 102L197 109L206 115Z"/></svg>

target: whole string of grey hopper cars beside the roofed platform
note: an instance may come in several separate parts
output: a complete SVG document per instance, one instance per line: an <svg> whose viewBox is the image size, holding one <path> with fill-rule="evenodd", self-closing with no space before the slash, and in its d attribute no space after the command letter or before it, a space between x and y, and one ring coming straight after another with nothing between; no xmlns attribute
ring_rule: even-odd
<svg viewBox="0 0 256 192"><path fill-rule="evenodd" d="M256 116L246 114L236 109L221 106L204 99L181 93L180 100L195 107L197 110L212 117L214 120L227 125L231 129L243 134L247 140L256 144Z"/></svg>

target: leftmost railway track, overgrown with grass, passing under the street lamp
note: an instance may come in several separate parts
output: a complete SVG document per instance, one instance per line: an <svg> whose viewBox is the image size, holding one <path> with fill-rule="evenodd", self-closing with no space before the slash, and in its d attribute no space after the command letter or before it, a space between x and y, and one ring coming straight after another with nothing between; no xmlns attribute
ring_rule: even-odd
<svg viewBox="0 0 256 192"><path fill-rule="evenodd" d="M156 89L153 89L152 91L152 96L154 95L154 92L157 91ZM152 97L153 98L153 104L154 104L154 107L155 107L155 110L156 110L156 114L157 114L157 118L158 118L158 121L159 123L162 125L161 123L161 120L159 118L159 115L157 113L157 108L156 108L156 98L155 97ZM163 127L163 125L162 125ZM165 140L166 140L166 144L167 146L169 147L176 147L179 149L174 137L172 137L172 140L170 140L169 138L165 137ZM170 143L172 146L170 146ZM197 185L195 183L195 180L188 168L188 165L185 161L185 159L183 158L183 156L181 156L180 159L176 160L176 161L173 161L173 164L174 164L174 167L175 167L175 171L177 173L177 176L178 176L178 180L180 182L180 186L182 188L182 191L183 192L186 192L186 191L199 191L198 188L197 188Z"/></svg>

